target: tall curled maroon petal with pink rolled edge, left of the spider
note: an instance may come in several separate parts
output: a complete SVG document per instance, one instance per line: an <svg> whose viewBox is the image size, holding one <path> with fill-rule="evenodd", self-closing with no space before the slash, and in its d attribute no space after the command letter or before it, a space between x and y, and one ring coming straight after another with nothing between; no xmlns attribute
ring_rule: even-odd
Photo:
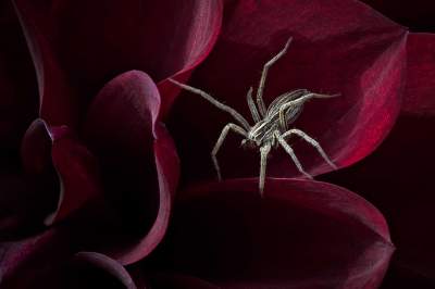
<svg viewBox="0 0 435 289"><path fill-rule="evenodd" d="M102 166L105 197L123 222L119 236L124 240L108 254L123 264L149 254L167 226L178 159L170 135L157 121L159 112L154 83L132 71L102 88L84 126Z"/></svg>

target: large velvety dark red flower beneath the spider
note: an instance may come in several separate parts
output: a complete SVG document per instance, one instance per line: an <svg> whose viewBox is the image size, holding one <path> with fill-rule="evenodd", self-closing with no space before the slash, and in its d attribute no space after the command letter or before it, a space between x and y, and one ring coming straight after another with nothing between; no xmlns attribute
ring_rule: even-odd
<svg viewBox="0 0 435 289"><path fill-rule="evenodd" d="M334 185L291 178L298 173L281 152L270 161L261 199L252 178L258 155L240 151L235 138L219 154L226 180L211 180L210 150L231 118L195 95L178 93L167 78L186 81L208 56L189 84L248 115L248 88L293 37L288 53L271 68L265 100L295 88L341 93L306 105L296 126L346 167L386 137L403 91L430 91L417 76L406 76L419 72L412 65L421 67L407 59L407 48L427 51L422 37L409 37L352 0L225 1L222 29L217 0L16 0L15 7L36 67L39 113L33 100L29 113L4 131L14 135L9 146L16 154L4 166L4 187L23 196L5 198L5 208L18 209L0 223L11 238L0 247L5 286L380 285L394 246L374 206ZM22 38L15 46L21 50L4 55L26 54ZM29 71L28 61L21 70ZM4 87L34 85L11 97L14 105L4 104L21 111L20 100L35 95L35 80L32 74L24 80L5 75ZM154 250L178 177L169 133L182 162L182 186L167 238ZM307 172L331 172L314 149L301 141L294 147ZM27 196L38 208L32 214ZM32 237L16 241L17 234Z"/></svg>

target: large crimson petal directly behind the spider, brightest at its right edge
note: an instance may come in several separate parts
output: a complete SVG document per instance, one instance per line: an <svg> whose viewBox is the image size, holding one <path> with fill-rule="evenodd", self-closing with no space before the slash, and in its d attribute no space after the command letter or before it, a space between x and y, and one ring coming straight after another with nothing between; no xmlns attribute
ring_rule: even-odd
<svg viewBox="0 0 435 289"><path fill-rule="evenodd" d="M264 63L293 37L287 54L270 70L265 102L296 88L339 92L340 97L308 103L295 126L318 139L339 167L371 153L400 109L407 32L357 1L229 3L222 35L190 85L248 117L248 88L257 86ZM190 178L210 177L210 151L224 125L234 120L197 95L184 91L178 100L170 128L183 172ZM241 152L239 138L229 139L217 156L224 176L258 175L257 153ZM304 141L296 141L295 151L312 175L333 169ZM270 175L300 175L288 155L273 154Z"/></svg>

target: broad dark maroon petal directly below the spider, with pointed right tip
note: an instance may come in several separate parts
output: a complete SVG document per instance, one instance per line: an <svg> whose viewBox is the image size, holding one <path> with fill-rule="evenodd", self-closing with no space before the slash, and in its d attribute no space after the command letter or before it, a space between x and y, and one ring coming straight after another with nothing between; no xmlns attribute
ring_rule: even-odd
<svg viewBox="0 0 435 289"><path fill-rule="evenodd" d="M269 178L261 198L257 179L233 179L179 196L149 264L223 288L376 288L394 251L382 214L326 183Z"/></svg>

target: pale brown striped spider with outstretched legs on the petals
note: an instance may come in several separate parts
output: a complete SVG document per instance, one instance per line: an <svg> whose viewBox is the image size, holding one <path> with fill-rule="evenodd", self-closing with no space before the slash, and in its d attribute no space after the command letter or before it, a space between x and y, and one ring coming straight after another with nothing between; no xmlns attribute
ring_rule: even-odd
<svg viewBox="0 0 435 289"><path fill-rule="evenodd" d="M258 108L256 106L252 99L252 87L250 87L248 90L247 102L252 115L252 120L254 122L253 126L250 126L248 121L236 110L215 100L209 93L198 88L182 84L177 80L170 78L170 80L173 84L192 93L201 96L202 98L214 104L217 109L229 113L238 122L238 124L228 123L222 129L222 133L211 152L211 158L214 164L214 168L217 173L219 180L222 180L222 175L221 175L221 168L217 163L216 154L222 143L224 142L227 134L231 130L244 137L244 139L241 140L241 147L260 150L260 180L259 180L260 194L262 194L264 190L268 155L271 149L277 149L279 146L290 155L298 171L306 177L310 179L312 178L310 174L303 171L302 165L300 164L294 150L286 142L286 139L288 139L294 135L302 138L312 147L314 147L320 153L320 155L326 161L327 164L330 164L335 169L337 168L336 165L326 155L326 153L324 152L324 150L316 140L314 140L312 137L308 136L300 129L297 128L289 129L288 125L290 125L296 121L296 118L302 111L303 104L308 100L313 98L319 98L319 99L334 98L339 95L320 95L310 92L307 89L297 89L278 96L277 98L275 98L275 100L272 101L272 103L269 105L268 109L264 104L263 90L269 68L287 52L291 39L293 38L290 37L285 43L284 49L281 50L263 66L260 84L257 90Z"/></svg>

